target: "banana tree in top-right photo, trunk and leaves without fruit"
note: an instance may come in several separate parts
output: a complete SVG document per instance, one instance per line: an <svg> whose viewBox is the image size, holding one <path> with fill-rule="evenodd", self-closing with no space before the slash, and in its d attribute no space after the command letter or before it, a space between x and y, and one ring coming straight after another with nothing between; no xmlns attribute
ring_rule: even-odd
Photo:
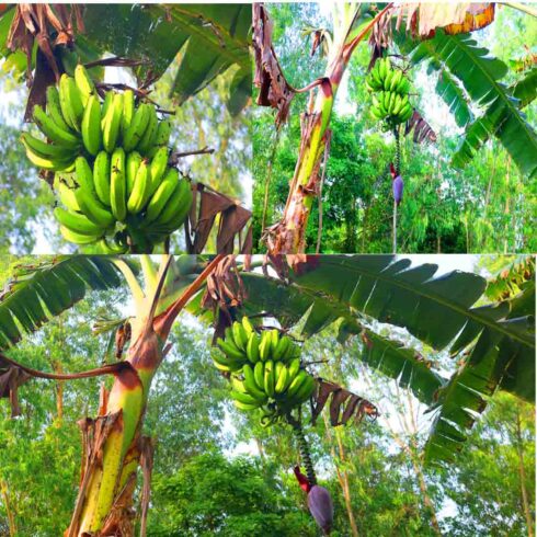
<svg viewBox="0 0 537 537"><path fill-rule="evenodd" d="M528 13L535 14L532 10ZM322 162L325 165L334 99L351 57L365 37L369 38L373 50L370 66L389 54L405 58L410 67L429 62L429 73L438 76L436 92L449 106L457 125L466 128L453 157L455 168L469 162L494 136L521 171L528 178L535 176L537 135L523 112L535 98L534 69L506 85L503 80L507 66L491 58L468 33L484 27L493 19L494 4L334 4L331 30L311 32L312 52L322 49L327 59L324 75L299 90L286 81L277 61L267 9L254 5L258 104L277 110L276 128L281 128L294 95L310 92L287 203L281 220L265 230L271 253L305 252L308 247L306 229L312 204L321 195ZM476 111L481 112L477 117ZM412 130L416 142L435 140L436 135L416 110L408 119L404 133Z"/></svg>

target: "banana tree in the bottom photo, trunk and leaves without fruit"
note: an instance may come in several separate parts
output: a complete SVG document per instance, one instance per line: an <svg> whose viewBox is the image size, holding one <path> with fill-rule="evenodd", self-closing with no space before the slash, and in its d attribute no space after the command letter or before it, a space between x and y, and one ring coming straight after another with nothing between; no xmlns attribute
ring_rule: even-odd
<svg viewBox="0 0 537 537"><path fill-rule="evenodd" d="M150 475L152 458L151 441L141 435L145 408L151 380L169 352L171 327L184 307L204 322L214 322L217 332L230 318L245 315L272 317L297 338L321 333L331 324L338 327L343 345L349 338L359 338L362 354L356 359L408 387L435 412L425 445L429 462L455 458L466 432L495 390L534 401L535 264L525 264L523 282L517 279L519 292L489 302L479 301L487 287L484 278L462 272L435 277L435 265L411 267L405 259L341 255L309 256L299 263L295 260L293 266L285 258L273 262L274 270L268 271L255 258L236 265L233 258L205 261L167 255L157 267L148 256L73 255L16 271L0 299L0 386L7 372L21 373L9 377L7 396L13 399L13 391L16 396L18 378L21 382L114 378L110 391L101 389L98 416L80 422L82 477L67 535L132 535L136 475L140 466ZM124 285L130 289L134 311L127 319L100 327L115 338L116 362L78 374L55 374L9 357L9 347L25 332L38 330L88 290ZM386 323L407 329L435 351L449 349L459 361L458 369L447 378L415 347L381 335ZM334 425L343 420L340 414L352 415L363 401L330 382L323 390L325 398L339 393L330 403ZM313 420L322 410L318 402ZM374 412L358 404L361 412L364 409ZM148 484L144 491L142 528Z"/></svg>

